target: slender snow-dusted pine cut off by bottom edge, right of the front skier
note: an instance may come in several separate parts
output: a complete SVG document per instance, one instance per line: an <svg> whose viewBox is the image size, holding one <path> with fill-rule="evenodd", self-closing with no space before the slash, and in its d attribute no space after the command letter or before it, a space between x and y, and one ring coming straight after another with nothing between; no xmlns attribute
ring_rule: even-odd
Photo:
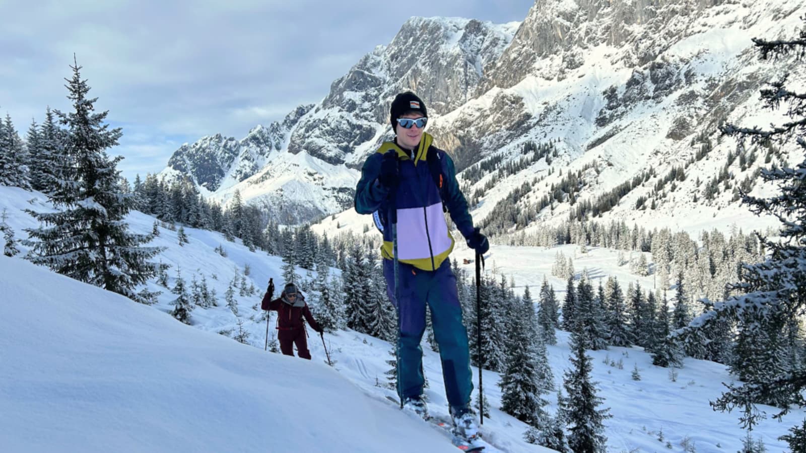
<svg viewBox="0 0 806 453"><path fill-rule="evenodd" d="M575 453L605 453L607 437L604 421L609 409L598 409L603 399L596 395L596 382L591 380L592 359L585 354L584 333L571 333L571 368L563 377L568 395L560 410L567 423L568 446Z"/></svg>

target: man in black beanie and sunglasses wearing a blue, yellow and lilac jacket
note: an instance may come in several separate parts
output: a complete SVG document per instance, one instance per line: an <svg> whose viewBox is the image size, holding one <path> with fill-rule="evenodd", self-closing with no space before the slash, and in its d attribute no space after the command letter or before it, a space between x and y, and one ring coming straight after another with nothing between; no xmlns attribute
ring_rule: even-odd
<svg viewBox="0 0 806 453"><path fill-rule="evenodd" d="M442 360L442 378L450 405L453 432L468 441L478 435L470 414L473 389L467 330L448 255L454 239L447 229L443 206L451 214L467 245L480 254L489 249L486 237L473 227L467 201L456 181L453 160L434 147L423 131L428 122L426 105L410 91L398 94L390 109L397 135L369 156L355 188L355 210L377 211L383 228L384 276L389 299L397 309L397 393L404 409L428 419L422 396L422 348L426 329L426 303L431 310L434 335ZM438 176L429 164L438 165ZM395 211L393 211L395 210ZM397 214L393 237L393 214ZM393 241L397 240L397 244ZM394 248L397 245L397 256ZM398 276L396 288L395 263ZM400 300L396 298L396 290Z"/></svg>

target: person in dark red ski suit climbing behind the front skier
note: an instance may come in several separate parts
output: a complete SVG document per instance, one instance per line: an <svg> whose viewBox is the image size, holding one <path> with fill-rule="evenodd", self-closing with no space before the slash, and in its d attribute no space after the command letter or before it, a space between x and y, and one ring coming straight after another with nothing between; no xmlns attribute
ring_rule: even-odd
<svg viewBox="0 0 806 453"><path fill-rule="evenodd" d="M314 316L310 314L308 304L305 303L305 297L302 296L297 290L297 286L293 283L285 284L283 292L280 297L272 301L272 289L268 289L260 303L260 308L263 310L275 310L277 312L277 326L276 329L280 330L277 333L277 339L280 340L280 351L285 355L294 355L293 344L297 345L297 355L302 359L310 360L310 351L308 351L308 332L305 330L305 322L302 317L308 320L311 327L316 330L319 335L325 331L319 323L316 322Z"/></svg>

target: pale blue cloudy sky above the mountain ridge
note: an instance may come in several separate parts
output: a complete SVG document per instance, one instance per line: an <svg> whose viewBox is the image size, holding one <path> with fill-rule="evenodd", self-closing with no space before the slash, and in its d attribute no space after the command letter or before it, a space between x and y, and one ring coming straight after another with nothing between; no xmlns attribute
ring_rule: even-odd
<svg viewBox="0 0 806 453"><path fill-rule="evenodd" d="M158 172L202 135L318 102L411 16L520 21L533 0L0 0L0 114L20 135L47 106L69 110L73 52L98 110L123 127L124 176Z"/></svg>

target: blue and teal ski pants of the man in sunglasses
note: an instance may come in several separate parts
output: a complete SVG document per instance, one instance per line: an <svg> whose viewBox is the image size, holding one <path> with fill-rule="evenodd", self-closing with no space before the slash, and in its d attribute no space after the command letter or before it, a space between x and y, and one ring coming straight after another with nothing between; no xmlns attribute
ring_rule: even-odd
<svg viewBox="0 0 806 453"><path fill-rule="evenodd" d="M395 298L393 260L384 260L384 277L389 300L397 308L397 393L401 401L422 395L422 347L426 331L426 304L431 310L434 337L442 360L442 379L448 404L454 409L470 407L473 390L467 329L462 323L462 306L456 289L451 260L442 261L436 271L424 271L399 264L397 282L400 301Z"/></svg>

